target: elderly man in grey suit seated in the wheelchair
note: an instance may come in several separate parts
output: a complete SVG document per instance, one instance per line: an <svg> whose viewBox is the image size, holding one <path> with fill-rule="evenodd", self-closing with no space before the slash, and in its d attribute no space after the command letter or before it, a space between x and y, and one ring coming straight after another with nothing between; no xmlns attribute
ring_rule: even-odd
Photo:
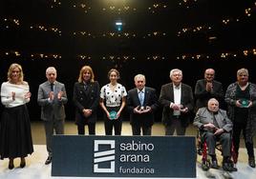
<svg viewBox="0 0 256 179"><path fill-rule="evenodd" d="M212 169L219 169L215 153L216 142L220 141L223 153L223 169L226 171L236 171L231 156L231 130L232 122L227 118L226 111L219 109L219 102L215 98L209 99L207 108L197 111L194 119L194 126L200 129L203 141L205 141L208 155L211 156Z"/></svg>

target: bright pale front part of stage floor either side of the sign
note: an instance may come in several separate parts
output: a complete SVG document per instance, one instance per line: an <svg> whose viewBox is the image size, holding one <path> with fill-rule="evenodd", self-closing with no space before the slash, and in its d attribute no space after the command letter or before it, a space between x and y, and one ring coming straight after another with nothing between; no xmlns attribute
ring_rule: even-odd
<svg viewBox="0 0 256 179"><path fill-rule="evenodd" d="M255 153L256 154L256 153ZM87 178L92 177L52 177L51 176L51 167L52 165L44 165L44 162L47 158L46 146L45 145L34 145L34 152L31 156L27 157L27 166L24 169L19 168L19 159L14 160L14 169L8 169L9 160L0 160L0 178L1 179L78 179L78 178ZM198 156L197 162L197 178L226 178L226 173L222 169L209 169L205 172L200 168L201 156ZM232 178L236 179L255 179L256 178L256 169L252 169L247 165L247 158L245 149L241 149L240 158L237 165L238 171L230 173ZM221 159L219 160L221 163ZM100 177L102 178L102 177ZM126 178L126 179L135 179L135 178ZM154 178L150 178L154 179Z"/></svg>

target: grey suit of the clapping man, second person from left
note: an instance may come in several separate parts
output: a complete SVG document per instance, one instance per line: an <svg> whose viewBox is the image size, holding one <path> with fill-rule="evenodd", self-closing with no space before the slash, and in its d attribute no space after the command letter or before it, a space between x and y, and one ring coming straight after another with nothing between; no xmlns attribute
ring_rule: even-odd
<svg viewBox="0 0 256 179"><path fill-rule="evenodd" d="M46 145L49 156L52 156L52 136L53 129L56 134L64 133L65 109L64 104L68 102L67 93L64 84L54 82L54 99L49 99L51 84L49 81L41 84L38 89L37 103L41 106L41 119L44 121L46 132ZM57 93L63 91L61 100L57 99Z"/></svg>

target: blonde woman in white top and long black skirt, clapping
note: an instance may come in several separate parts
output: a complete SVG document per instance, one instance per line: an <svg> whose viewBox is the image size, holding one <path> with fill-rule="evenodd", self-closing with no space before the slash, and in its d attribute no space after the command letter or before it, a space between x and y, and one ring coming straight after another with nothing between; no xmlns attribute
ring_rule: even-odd
<svg viewBox="0 0 256 179"><path fill-rule="evenodd" d="M0 156L9 158L9 169L14 168L13 159L20 157L20 168L26 166L25 157L32 154L32 133L26 103L30 102L29 84L23 81L20 65L11 64L8 81L1 86L1 102L5 109L1 116Z"/></svg>

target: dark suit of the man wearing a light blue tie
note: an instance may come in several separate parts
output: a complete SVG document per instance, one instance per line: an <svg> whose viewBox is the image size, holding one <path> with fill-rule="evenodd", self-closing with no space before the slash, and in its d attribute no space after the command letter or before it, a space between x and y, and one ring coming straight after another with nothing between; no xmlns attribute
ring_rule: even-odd
<svg viewBox="0 0 256 179"><path fill-rule="evenodd" d="M138 89L128 91L127 108L130 112L130 122L133 129L133 135L140 135L142 128L143 135L151 135L151 127L154 123L154 111L158 109L158 97L156 89L145 87L143 107L150 107L152 110L146 113L135 113L134 109L140 106Z"/></svg>

